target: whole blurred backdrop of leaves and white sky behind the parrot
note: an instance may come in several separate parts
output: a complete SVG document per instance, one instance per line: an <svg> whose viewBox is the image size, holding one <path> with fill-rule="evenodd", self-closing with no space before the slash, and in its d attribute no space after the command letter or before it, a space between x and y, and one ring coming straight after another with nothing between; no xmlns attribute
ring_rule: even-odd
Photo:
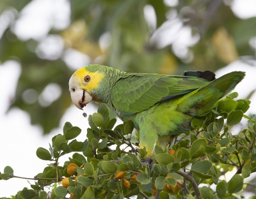
<svg viewBox="0 0 256 199"><path fill-rule="evenodd" d="M35 151L48 149L66 121L86 138L68 80L88 64L169 75L246 71L236 91L255 114L255 8L255 0L1 0L0 172L7 165L23 177L42 172L46 162ZM88 115L96 110L86 106ZM24 186L0 181L0 197Z"/></svg>

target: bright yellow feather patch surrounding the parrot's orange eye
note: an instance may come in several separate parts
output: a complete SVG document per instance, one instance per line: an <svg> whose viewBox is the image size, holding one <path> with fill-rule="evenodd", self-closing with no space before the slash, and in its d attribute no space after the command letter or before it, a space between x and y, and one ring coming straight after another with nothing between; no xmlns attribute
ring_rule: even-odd
<svg viewBox="0 0 256 199"><path fill-rule="evenodd" d="M77 82L81 85L81 89L85 89L87 92L92 92L93 89L99 88L99 84L104 78L104 73L100 73L99 71L96 72L89 72L85 68L80 68L74 74L76 77ZM84 76L90 75L91 80L88 83L84 82Z"/></svg>

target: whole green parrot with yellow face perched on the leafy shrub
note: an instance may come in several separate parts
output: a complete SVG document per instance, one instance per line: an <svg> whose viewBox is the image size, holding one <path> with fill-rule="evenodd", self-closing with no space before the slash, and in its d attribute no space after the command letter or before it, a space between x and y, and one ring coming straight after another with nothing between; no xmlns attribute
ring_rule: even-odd
<svg viewBox="0 0 256 199"><path fill-rule="evenodd" d="M131 120L147 156L163 149L173 135L189 131L191 119L211 111L216 102L244 78L234 71L215 79L211 71L186 71L182 76L125 73L92 64L69 80L71 99L83 110L90 101L105 103L122 121Z"/></svg>

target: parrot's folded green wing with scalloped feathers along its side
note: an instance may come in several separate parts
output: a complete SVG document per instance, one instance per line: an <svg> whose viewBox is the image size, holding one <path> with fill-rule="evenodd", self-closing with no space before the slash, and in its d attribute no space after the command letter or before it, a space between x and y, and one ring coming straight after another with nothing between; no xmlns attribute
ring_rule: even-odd
<svg viewBox="0 0 256 199"><path fill-rule="evenodd" d="M132 115L207 84L197 77L128 73L113 87L111 101L118 112Z"/></svg>

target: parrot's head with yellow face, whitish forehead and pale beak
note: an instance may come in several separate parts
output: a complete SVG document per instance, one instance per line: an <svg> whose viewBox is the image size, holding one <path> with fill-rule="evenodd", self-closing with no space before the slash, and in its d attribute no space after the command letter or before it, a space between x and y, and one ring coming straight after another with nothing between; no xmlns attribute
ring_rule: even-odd
<svg viewBox="0 0 256 199"><path fill-rule="evenodd" d="M82 109L90 101L100 103L99 95L101 83L106 76L104 66L89 65L80 68L68 82L71 99L77 108Z"/></svg>

